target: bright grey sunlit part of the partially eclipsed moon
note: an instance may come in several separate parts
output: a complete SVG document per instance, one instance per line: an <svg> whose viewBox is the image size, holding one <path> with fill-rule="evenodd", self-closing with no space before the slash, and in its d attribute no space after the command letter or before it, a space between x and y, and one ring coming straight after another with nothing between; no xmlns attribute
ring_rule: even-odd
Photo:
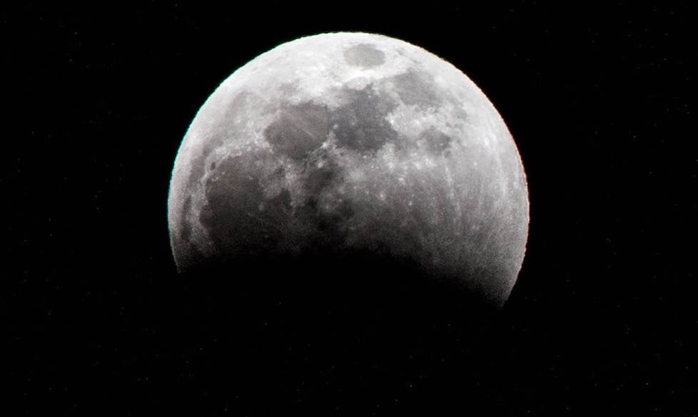
<svg viewBox="0 0 698 417"><path fill-rule="evenodd" d="M373 251L498 306L528 222L520 155L485 94L433 53L363 33L283 43L223 81L183 138L168 197L180 272Z"/></svg>

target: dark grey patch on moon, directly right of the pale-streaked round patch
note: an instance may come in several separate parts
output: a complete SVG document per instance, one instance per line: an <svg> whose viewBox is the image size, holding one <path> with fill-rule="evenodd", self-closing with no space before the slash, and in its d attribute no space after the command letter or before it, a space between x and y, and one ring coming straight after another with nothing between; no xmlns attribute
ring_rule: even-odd
<svg viewBox="0 0 698 417"><path fill-rule="evenodd" d="M330 125L340 146L370 152L398 138L386 118L397 107L393 99L367 86L358 91L345 88L343 101L340 108L330 111Z"/></svg>

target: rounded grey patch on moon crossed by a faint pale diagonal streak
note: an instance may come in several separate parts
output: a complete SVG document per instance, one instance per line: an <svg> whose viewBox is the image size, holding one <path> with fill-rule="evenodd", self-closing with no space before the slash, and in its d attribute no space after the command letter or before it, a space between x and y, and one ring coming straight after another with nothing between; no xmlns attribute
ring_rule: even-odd
<svg viewBox="0 0 698 417"><path fill-rule="evenodd" d="M320 148L328 135L328 110L311 101L283 105L278 119L264 130L264 137L278 153L294 160Z"/></svg>

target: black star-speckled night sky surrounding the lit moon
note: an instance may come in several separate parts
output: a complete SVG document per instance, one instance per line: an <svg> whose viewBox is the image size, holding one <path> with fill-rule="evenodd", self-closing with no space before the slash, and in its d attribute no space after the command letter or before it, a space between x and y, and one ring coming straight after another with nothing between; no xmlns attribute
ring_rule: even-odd
<svg viewBox="0 0 698 417"><path fill-rule="evenodd" d="M696 416L692 6L194 4L0 12L5 415ZM196 110L340 30L442 56L512 131L530 240L497 314L385 264L176 274L168 180Z"/></svg>

